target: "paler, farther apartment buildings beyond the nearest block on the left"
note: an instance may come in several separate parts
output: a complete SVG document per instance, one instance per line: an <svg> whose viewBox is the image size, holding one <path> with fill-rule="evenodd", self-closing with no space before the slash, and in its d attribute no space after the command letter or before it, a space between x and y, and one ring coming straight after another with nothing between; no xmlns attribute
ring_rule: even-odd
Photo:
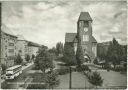
<svg viewBox="0 0 128 90"><path fill-rule="evenodd" d="M22 35L17 35L17 37L17 54L20 54L23 62L26 62L26 55L29 55L30 59L32 58L32 55L36 56L40 45L26 40Z"/></svg>

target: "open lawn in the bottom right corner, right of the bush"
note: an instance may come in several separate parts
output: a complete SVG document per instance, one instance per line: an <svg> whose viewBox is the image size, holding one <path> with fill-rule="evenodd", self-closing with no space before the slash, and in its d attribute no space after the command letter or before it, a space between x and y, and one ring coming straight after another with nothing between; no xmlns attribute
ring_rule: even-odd
<svg viewBox="0 0 128 90"><path fill-rule="evenodd" d="M103 88L126 88L127 75L115 71L98 71L104 79Z"/></svg>

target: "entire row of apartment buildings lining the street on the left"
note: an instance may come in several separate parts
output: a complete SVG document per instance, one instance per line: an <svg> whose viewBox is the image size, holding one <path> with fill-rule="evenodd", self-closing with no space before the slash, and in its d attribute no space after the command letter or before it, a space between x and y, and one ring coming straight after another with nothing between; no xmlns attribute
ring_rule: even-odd
<svg viewBox="0 0 128 90"><path fill-rule="evenodd" d="M36 56L39 47L40 45L27 41L22 35L14 35L6 25L2 25L0 63L7 68L15 64L14 60L18 54L23 62L26 62L26 55Z"/></svg>

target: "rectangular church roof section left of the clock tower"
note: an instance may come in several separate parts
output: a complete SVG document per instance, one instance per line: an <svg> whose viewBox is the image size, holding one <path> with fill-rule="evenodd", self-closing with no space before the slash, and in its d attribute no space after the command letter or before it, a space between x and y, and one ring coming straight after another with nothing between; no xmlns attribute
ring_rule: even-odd
<svg viewBox="0 0 128 90"><path fill-rule="evenodd" d="M66 33L65 42L77 42L76 33Z"/></svg>

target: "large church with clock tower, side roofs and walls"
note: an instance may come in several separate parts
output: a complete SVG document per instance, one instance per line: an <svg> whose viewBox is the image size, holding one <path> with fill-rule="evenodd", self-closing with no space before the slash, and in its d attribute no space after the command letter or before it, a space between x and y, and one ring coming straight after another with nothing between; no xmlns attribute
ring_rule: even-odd
<svg viewBox="0 0 128 90"><path fill-rule="evenodd" d="M77 51L78 37L81 39L81 47L84 58L90 62L97 57L97 41L92 35L92 18L88 12L81 12L77 21L77 33L66 33L65 43L72 43L75 53Z"/></svg>

